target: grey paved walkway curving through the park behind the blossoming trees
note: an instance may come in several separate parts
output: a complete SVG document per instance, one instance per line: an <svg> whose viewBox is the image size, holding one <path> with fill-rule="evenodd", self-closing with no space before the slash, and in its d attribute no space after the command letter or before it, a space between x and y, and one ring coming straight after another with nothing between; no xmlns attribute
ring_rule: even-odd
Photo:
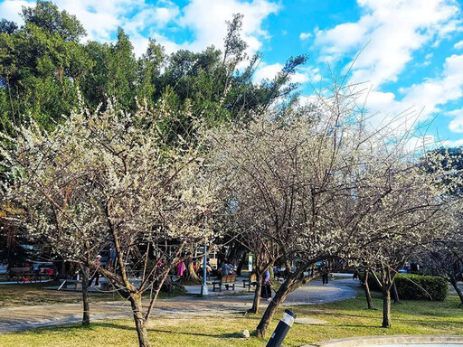
<svg viewBox="0 0 463 347"><path fill-rule="evenodd" d="M351 286L358 286L352 279L340 279L323 286L320 281L312 281L288 295L283 305L310 305L345 300L354 297ZM238 287L238 286L237 286ZM245 295L211 295L207 297L177 296L159 300L153 315L165 317L214 316L243 312L252 305L252 292ZM230 294L230 292L229 292ZM263 306L267 302L262 302ZM128 302L93 303L90 305L91 320L118 319L131 317ZM6 307L0 311L0 333L8 333L38 326L78 323L81 320L82 305L46 305Z"/></svg>

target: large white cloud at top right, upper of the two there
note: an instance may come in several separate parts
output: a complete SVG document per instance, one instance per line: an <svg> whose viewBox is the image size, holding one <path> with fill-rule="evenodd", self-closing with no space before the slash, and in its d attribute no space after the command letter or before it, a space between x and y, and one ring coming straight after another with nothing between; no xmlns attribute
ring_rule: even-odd
<svg viewBox="0 0 463 347"><path fill-rule="evenodd" d="M322 61L353 56L364 48L351 80L370 81L375 89L397 80L413 52L425 43L439 42L458 30L460 23L455 0L357 2L364 10L359 21L317 31L315 44L322 51Z"/></svg>

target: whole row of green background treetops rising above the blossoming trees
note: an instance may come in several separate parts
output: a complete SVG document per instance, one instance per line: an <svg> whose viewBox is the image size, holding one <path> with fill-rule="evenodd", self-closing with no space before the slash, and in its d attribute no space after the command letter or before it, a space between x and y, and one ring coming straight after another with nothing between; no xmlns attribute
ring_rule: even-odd
<svg viewBox="0 0 463 347"><path fill-rule="evenodd" d="M146 98L148 106L164 98L170 108L192 108L210 125L251 117L293 94L297 85L290 77L307 60L291 58L274 80L254 83L260 55L246 54L241 14L228 22L223 52L208 47L167 56L149 40L141 57L121 28L116 42L81 43L86 32L79 20L49 1L24 7L22 15L20 28L0 22L0 130L10 133L29 114L40 127L55 127L78 106L78 89L90 108L114 97L134 111L136 98ZM179 129L187 126L184 119Z"/></svg>

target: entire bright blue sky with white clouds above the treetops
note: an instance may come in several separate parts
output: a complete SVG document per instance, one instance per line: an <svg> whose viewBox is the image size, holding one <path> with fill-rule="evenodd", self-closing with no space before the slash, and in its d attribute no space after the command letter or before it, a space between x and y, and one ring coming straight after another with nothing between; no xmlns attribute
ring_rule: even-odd
<svg viewBox="0 0 463 347"><path fill-rule="evenodd" d="M225 21L244 14L250 52L262 52L256 80L271 78L290 55L310 59L295 81L307 98L313 86L343 75L354 57L350 83L362 83L373 121L407 111L433 119L429 140L463 145L463 16L457 0L56 0L76 14L89 40L114 40L122 26L137 54L148 37L165 45L201 51L222 47ZM21 22L26 0L0 0L0 17ZM328 69L328 64L330 69ZM368 93L366 93L368 91ZM417 133L418 135L418 133Z"/></svg>

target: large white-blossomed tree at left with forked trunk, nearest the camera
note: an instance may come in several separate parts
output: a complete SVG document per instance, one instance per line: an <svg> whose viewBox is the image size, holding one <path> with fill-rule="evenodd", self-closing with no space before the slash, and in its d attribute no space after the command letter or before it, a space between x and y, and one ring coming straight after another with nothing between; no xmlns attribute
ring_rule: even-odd
<svg viewBox="0 0 463 347"><path fill-rule="evenodd" d="M172 132L176 117L189 117L192 132ZM24 208L29 235L106 277L131 304L140 346L150 345L146 324L186 241L211 236L204 217L213 186L195 124L188 108L173 114L160 102L130 114L109 100L104 110L80 108L51 132L33 122L18 128L1 153L5 199ZM163 246L169 241L178 246L172 254ZM103 268L94 255L109 244L116 261Z"/></svg>

